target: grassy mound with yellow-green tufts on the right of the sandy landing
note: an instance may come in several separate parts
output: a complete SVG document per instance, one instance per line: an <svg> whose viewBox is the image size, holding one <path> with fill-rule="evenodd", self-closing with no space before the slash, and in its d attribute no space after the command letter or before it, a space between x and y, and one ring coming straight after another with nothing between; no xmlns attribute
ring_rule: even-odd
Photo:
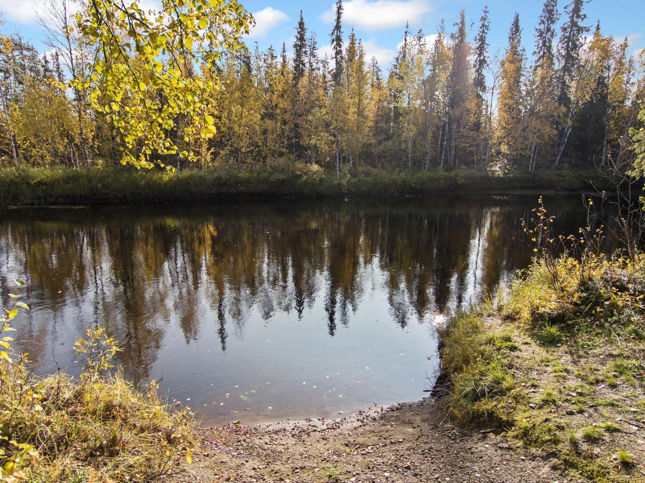
<svg viewBox="0 0 645 483"><path fill-rule="evenodd" d="M440 332L450 417L556 455L573 480L638 480L639 455L616 451L629 443L611 420L645 408L643 298L643 254L533 260L490 310Z"/></svg>

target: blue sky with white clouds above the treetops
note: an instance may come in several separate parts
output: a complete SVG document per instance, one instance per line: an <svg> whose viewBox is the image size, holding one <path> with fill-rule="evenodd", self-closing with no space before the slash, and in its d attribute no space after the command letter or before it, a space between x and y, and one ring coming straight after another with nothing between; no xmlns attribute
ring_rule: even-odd
<svg viewBox="0 0 645 483"><path fill-rule="evenodd" d="M144 6L154 7L158 0L139 0ZM570 0L560 0L559 9ZM346 1L343 30L347 34L352 26L366 46L368 57L375 55L382 66L393 59L397 45L401 42L406 21L412 30L422 28L426 35L437 31L441 19L445 19L450 32L452 24L459 19L459 10L466 11L466 21L475 24L470 29L470 37L475 35L482 8L488 4L491 30L489 34L490 51L502 51L506 44L508 28L515 11L520 15L522 39L527 52L533 51L533 29L542 10L541 0L351 0ZM34 10L42 5L42 0L0 0L0 12L5 19L5 32L19 29L27 39L41 47L41 27ZM261 49L273 44L276 50L285 42L291 51L295 25L300 10L308 29L313 29L321 53L329 52L329 32L333 26L333 0L304 3L295 0L243 1L246 9L257 17L258 25L247 39L248 44L257 42ZM645 16L643 0L591 0L585 6L587 24L600 26L605 34L622 39L630 38L631 48L640 51L645 48Z"/></svg>

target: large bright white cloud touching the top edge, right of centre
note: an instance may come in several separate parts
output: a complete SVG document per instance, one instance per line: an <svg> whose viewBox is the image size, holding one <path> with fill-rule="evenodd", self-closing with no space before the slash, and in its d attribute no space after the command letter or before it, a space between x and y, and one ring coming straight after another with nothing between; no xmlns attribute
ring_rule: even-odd
<svg viewBox="0 0 645 483"><path fill-rule="evenodd" d="M343 4L342 20L352 26L379 30L402 26L407 21L416 23L428 12L428 0L350 0ZM323 14L323 20L332 23L334 19L335 8L332 5Z"/></svg>

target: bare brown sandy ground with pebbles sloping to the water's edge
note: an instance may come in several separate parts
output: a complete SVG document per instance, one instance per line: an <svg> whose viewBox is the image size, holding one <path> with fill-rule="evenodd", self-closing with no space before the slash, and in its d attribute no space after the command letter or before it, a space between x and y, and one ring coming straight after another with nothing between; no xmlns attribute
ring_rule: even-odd
<svg viewBox="0 0 645 483"><path fill-rule="evenodd" d="M571 482L548 457L464 431L439 402L375 406L332 421L201 430L192 465L169 482Z"/></svg>

